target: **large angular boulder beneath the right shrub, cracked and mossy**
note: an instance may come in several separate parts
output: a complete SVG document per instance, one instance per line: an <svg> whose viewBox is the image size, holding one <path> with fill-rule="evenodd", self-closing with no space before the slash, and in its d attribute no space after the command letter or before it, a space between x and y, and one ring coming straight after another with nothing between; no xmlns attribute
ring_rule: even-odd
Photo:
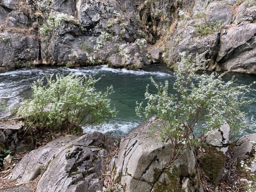
<svg viewBox="0 0 256 192"><path fill-rule="evenodd" d="M180 178L186 178L193 187L187 191L203 191L201 188L193 149L188 150L168 170L162 171L169 158L170 144L163 145L160 137L150 137L144 122L121 139L118 155L113 167L113 180L123 192L159 191L165 187L181 190ZM168 172L168 173L167 173ZM193 176L192 176L193 175ZM196 175L196 176L195 176ZM167 184L166 184L167 183Z"/></svg>

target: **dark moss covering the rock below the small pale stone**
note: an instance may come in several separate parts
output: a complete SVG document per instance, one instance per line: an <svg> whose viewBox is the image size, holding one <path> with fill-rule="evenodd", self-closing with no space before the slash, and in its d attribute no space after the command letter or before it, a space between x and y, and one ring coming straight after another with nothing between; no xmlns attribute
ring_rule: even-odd
<svg viewBox="0 0 256 192"><path fill-rule="evenodd" d="M203 158L202 168L211 182L215 183L226 161L226 156L222 151L218 151L217 148L212 146L205 145L204 149L206 155Z"/></svg>

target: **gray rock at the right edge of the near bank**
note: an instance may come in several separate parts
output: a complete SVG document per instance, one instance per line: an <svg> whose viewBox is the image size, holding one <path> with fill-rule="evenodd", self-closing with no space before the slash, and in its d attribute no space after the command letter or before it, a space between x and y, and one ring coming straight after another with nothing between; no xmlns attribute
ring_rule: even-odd
<svg viewBox="0 0 256 192"><path fill-rule="evenodd" d="M252 142L256 142L256 133L250 135L242 136L234 147L232 147L232 151L234 152L234 157L239 160L246 160L250 158L250 154L255 153L252 151L253 144Z"/></svg>

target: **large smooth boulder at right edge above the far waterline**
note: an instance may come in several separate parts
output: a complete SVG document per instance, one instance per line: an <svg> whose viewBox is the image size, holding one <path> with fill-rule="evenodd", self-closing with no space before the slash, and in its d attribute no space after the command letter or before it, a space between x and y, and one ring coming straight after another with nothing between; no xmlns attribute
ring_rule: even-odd
<svg viewBox="0 0 256 192"><path fill-rule="evenodd" d="M241 22L220 37L216 61L224 70L256 74L256 23Z"/></svg>

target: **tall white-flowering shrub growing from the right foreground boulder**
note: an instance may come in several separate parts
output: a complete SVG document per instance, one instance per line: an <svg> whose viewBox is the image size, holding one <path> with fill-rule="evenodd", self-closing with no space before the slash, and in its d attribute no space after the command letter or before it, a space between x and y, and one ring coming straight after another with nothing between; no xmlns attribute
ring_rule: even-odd
<svg viewBox="0 0 256 192"><path fill-rule="evenodd" d="M207 62L204 53L197 54L194 61L191 55L180 55L180 65L174 72L176 81L173 88L177 94L168 93L167 81L164 85L157 84L151 77L156 92L151 92L148 85L145 93L147 106L144 108L143 103L137 102L136 107L137 116L141 119L147 121L156 116L160 122L160 126L151 123L149 133L157 133L164 142L172 144L169 163L195 142L192 136L195 129L202 138L207 131L224 123L230 125L232 134L248 128L245 113L240 108L254 102L245 97L252 91L250 85L235 86L234 78L225 83L222 77L226 73L196 74L196 71L204 69Z"/></svg>

